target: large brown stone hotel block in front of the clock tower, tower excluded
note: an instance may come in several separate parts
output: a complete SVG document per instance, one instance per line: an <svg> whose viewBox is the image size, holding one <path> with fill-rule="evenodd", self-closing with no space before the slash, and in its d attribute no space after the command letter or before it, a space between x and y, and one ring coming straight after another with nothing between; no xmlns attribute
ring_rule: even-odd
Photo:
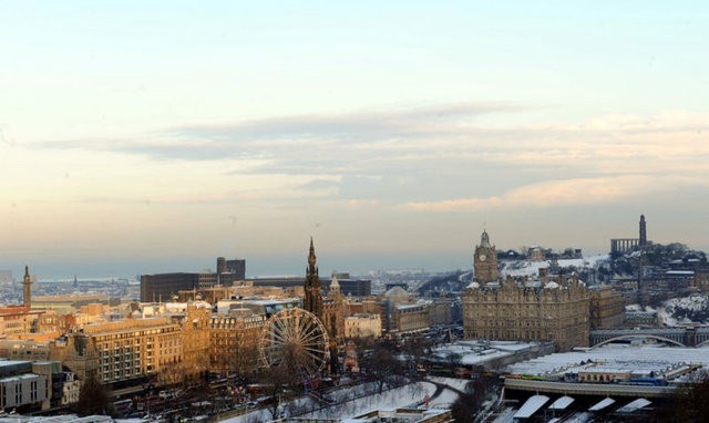
<svg viewBox="0 0 709 423"><path fill-rule="evenodd" d="M588 345L590 293L575 277L536 287L473 282L462 302L465 339L554 341L557 351Z"/></svg>

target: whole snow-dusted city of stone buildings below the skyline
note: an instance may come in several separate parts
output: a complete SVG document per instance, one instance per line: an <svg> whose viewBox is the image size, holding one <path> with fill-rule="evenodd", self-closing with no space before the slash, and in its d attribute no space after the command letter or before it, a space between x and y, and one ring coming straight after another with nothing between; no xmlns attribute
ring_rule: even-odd
<svg viewBox="0 0 709 423"><path fill-rule="evenodd" d="M321 277L315 238L302 277L224 257L140 281L3 271L0 405L22 421L700 419L681 392L706 390L707 256L655 244L644 215L637 234L586 257L497 250L483 230L471 269L376 279Z"/></svg>

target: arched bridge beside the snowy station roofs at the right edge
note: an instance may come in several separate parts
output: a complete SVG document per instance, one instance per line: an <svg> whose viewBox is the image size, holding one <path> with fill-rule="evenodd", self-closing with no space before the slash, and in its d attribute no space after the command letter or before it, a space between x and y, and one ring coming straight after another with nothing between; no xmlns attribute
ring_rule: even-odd
<svg viewBox="0 0 709 423"><path fill-rule="evenodd" d="M633 338L651 338L678 347L701 347L709 344L709 328L595 329L590 331L592 348Z"/></svg>

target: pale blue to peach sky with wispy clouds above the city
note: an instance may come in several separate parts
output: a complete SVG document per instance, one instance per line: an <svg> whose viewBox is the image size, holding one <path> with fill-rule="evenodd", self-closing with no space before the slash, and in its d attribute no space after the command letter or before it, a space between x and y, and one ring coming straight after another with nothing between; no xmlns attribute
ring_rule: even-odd
<svg viewBox="0 0 709 423"><path fill-rule="evenodd" d="M383 3L383 4L382 4ZM709 4L0 2L0 269L709 249Z"/></svg>

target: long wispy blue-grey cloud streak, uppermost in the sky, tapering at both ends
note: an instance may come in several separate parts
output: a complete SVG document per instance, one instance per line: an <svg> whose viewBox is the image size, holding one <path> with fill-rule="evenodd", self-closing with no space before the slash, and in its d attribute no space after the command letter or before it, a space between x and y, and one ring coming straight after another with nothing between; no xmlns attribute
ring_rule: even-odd
<svg viewBox="0 0 709 423"><path fill-rule="evenodd" d="M142 134L137 140L56 140L45 148L109 151L160 159L206 161L267 158L276 149L306 153L392 140L414 140L454 133L490 113L524 110L505 103L456 103L382 112L302 114L225 124L182 125Z"/></svg>

